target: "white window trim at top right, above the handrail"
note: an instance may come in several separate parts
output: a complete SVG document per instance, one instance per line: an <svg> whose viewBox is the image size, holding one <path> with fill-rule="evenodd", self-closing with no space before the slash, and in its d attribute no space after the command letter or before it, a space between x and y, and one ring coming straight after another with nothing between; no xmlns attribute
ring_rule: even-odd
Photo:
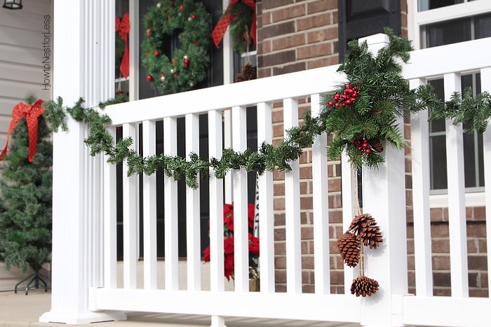
<svg viewBox="0 0 491 327"><path fill-rule="evenodd" d="M491 1L489 0L464 2L463 4L455 4L452 6L431 9L429 11L417 11L417 0L409 0L408 37L412 40L415 49L419 50L421 48L421 38L419 34L422 25L464 18L472 15L480 15L487 12L491 12Z"/></svg>

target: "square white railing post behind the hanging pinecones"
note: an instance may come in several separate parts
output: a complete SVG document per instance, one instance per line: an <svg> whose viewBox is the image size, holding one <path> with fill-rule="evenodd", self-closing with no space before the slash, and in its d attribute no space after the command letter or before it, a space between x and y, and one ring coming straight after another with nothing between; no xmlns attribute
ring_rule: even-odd
<svg viewBox="0 0 491 327"><path fill-rule="evenodd" d="M367 42L376 55L389 39L377 34ZM403 119L397 123L403 130ZM397 298L408 293L404 151L387 146L382 155L379 169L363 169L363 212L375 218L384 238L379 248L365 248L365 275L379 282L379 291L361 302L361 324L367 327L403 326Z"/></svg>

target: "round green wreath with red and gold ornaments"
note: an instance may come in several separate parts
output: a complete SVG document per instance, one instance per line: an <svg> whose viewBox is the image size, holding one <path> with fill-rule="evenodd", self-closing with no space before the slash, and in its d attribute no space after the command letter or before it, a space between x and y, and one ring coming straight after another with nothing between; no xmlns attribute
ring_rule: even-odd
<svg viewBox="0 0 491 327"><path fill-rule="evenodd" d="M142 64L147 81L161 95L190 90L206 79L210 62L210 14L201 2L157 0L143 18ZM180 47L170 59L165 46L177 34Z"/></svg>

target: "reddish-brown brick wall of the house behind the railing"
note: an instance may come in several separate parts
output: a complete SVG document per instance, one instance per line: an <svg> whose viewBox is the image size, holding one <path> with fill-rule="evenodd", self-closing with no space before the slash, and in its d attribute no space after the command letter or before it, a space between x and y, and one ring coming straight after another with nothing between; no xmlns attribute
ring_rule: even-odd
<svg viewBox="0 0 491 327"><path fill-rule="evenodd" d="M337 0L262 0L257 6L258 77L276 76L294 71L338 64ZM408 36L407 2L401 0L401 34ZM299 118L309 109L309 99L299 101ZM274 144L283 140L282 104L273 106ZM410 120L405 118L405 137L410 139ZM412 229L412 180L410 148L406 156L406 194L408 214L408 267L411 293L415 292L414 244ZM342 235L341 169L339 161L328 165L328 202L330 221L331 292L344 293L343 262L337 250ZM274 173L276 291L286 291L285 257L285 186L284 173ZM311 198L311 151L300 158L302 284L304 292L314 291L314 242ZM485 214L482 207L468 208L469 293L487 296L487 262ZM448 213L446 209L431 210L433 237L434 294L450 294L450 256Z"/></svg>

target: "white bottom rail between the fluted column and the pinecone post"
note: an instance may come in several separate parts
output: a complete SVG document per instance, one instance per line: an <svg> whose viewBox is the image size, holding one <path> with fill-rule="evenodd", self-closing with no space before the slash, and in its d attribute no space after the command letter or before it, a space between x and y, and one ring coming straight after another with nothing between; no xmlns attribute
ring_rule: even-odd
<svg viewBox="0 0 491 327"><path fill-rule="evenodd" d="M209 316L360 322L360 298L311 293L238 293L93 288L92 308Z"/></svg>

